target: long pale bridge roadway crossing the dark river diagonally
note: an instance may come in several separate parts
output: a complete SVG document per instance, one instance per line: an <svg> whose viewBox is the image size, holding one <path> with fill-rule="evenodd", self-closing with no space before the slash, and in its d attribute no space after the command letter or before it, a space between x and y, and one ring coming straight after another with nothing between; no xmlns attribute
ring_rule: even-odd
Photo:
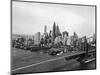
<svg viewBox="0 0 100 75"><path fill-rule="evenodd" d="M94 51L95 50L90 50L88 52L90 53L90 52L94 52ZM73 51L73 52L68 52L68 53L62 53L61 55L56 55L52 58L48 58L48 59L45 59L45 60L43 59L39 62L13 69L13 70L11 70L11 72L12 73L20 73L21 70L25 70L27 68L36 67L38 65L42 65L42 64L45 64L45 63L48 63L48 62L51 62L51 61L56 61L56 60L60 60L60 59L63 59L63 58L70 58L70 57L85 54L85 53L86 53L86 51Z"/></svg>

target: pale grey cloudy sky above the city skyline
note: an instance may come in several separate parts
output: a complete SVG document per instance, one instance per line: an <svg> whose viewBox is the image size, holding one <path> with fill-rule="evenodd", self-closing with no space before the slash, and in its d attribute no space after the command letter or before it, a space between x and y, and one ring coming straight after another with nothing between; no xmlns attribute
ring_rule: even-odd
<svg viewBox="0 0 100 75"><path fill-rule="evenodd" d="M46 3L12 2L12 33L34 35L52 30L53 23L61 32L79 37L95 33L95 7Z"/></svg>

